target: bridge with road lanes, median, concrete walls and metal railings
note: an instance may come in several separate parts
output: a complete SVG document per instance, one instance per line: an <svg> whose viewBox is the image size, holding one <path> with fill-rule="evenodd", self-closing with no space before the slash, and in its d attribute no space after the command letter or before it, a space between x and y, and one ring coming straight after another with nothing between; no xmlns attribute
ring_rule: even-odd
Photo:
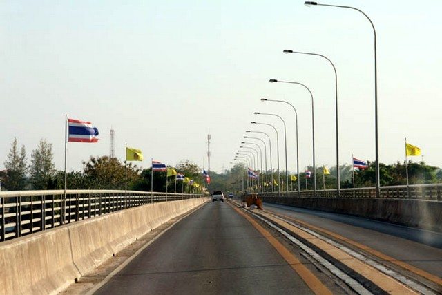
<svg viewBox="0 0 442 295"><path fill-rule="evenodd" d="M0 293L441 293L440 186L370 191L2 192Z"/></svg>

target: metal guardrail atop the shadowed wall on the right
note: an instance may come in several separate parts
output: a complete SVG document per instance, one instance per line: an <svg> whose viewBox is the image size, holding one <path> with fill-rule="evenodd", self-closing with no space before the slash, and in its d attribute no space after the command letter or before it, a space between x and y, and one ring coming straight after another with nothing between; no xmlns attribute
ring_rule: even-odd
<svg viewBox="0 0 442 295"><path fill-rule="evenodd" d="M442 201L442 184L412 184L410 186L397 185L392 187L380 187L379 198L391 199L413 199L413 200L434 200ZM277 197L278 193L258 193L261 196ZM286 196L286 192L281 191L281 197ZM289 191L289 198L297 198L297 191ZM300 198L337 198L336 189L300 191ZM340 198L376 198L376 187L362 187L356 189L340 189Z"/></svg>

